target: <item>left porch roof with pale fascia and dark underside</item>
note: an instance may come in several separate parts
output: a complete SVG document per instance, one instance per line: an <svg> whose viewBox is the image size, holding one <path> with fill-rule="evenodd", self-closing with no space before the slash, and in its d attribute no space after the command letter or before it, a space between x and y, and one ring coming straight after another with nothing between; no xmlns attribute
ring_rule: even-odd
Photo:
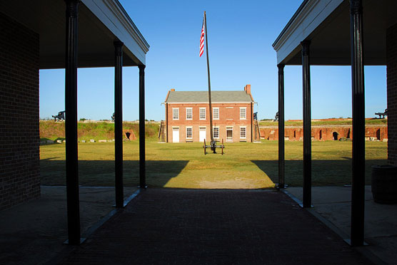
<svg viewBox="0 0 397 265"><path fill-rule="evenodd" d="M0 10L39 34L40 69L65 68L64 1L0 1ZM114 41L124 43L123 66L146 64L149 44L119 0L81 0L78 31L79 68L114 67Z"/></svg>

